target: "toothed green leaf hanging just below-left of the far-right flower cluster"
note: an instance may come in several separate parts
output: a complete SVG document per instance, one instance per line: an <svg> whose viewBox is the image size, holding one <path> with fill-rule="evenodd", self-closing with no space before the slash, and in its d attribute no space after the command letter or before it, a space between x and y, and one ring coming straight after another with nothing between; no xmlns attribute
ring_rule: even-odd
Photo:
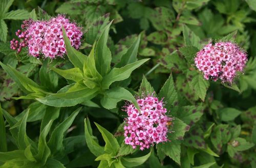
<svg viewBox="0 0 256 168"><path fill-rule="evenodd" d="M189 87L196 92L198 97L204 101L209 82L203 78L197 71L188 71L187 79Z"/></svg>

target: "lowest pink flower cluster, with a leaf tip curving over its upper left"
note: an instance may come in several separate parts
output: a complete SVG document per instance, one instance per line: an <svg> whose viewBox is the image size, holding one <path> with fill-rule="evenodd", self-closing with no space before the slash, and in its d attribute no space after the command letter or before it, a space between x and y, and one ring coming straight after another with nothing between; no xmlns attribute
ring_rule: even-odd
<svg viewBox="0 0 256 168"><path fill-rule="evenodd" d="M139 146L140 150L150 148L154 143L166 142L168 132L168 118L164 104L153 96L137 100L139 110L133 105L128 105L125 111L129 117L124 121L124 142L134 149Z"/></svg>

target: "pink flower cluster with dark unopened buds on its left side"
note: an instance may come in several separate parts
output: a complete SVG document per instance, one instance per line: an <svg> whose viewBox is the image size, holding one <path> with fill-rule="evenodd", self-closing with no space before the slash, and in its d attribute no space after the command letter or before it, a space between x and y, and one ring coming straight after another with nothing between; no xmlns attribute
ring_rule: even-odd
<svg viewBox="0 0 256 168"><path fill-rule="evenodd" d="M29 19L23 23L22 30L16 32L21 42L19 43L15 39L10 42L11 49L17 50L17 52L20 52L23 47L28 47L28 52L33 57L39 57L40 55L51 59L62 57L66 53L62 25L71 41L71 45L76 49L81 45L81 27L70 22L63 15L58 15L48 21Z"/></svg>

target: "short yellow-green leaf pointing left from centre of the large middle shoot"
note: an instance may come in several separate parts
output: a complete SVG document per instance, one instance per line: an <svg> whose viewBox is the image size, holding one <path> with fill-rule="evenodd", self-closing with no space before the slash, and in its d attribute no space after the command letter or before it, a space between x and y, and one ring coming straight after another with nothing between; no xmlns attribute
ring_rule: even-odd
<svg viewBox="0 0 256 168"><path fill-rule="evenodd" d="M65 79L74 80L76 82L83 80L82 71L79 68L71 68L66 70L57 69L54 67L50 68Z"/></svg>

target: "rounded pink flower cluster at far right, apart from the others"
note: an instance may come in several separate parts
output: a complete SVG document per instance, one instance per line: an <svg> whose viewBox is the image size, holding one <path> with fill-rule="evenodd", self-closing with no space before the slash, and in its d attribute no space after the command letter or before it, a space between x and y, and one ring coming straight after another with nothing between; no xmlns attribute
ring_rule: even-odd
<svg viewBox="0 0 256 168"><path fill-rule="evenodd" d="M231 42L207 44L195 58L197 68L204 73L205 79L232 83L237 72L242 72L247 62L247 54Z"/></svg>

